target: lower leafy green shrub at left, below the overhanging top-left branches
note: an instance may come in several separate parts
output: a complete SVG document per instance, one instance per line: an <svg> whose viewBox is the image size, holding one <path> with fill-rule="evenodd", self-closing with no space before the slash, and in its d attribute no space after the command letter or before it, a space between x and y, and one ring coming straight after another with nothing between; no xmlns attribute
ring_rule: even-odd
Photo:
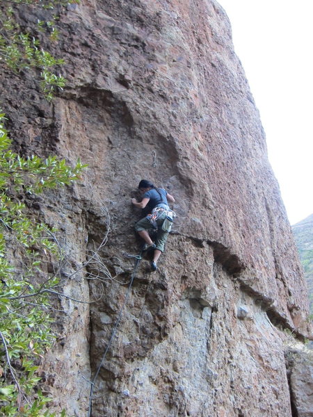
<svg viewBox="0 0 313 417"><path fill-rule="evenodd" d="M54 343L49 294L58 293L62 250L56 231L26 213L27 193L41 193L80 179L56 157L22 158L10 151L0 115L0 416L54 416L38 389L36 371ZM57 265L54 273L48 265ZM50 268L51 269L51 268ZM62 416L64 416L64 412Z"/></svg>

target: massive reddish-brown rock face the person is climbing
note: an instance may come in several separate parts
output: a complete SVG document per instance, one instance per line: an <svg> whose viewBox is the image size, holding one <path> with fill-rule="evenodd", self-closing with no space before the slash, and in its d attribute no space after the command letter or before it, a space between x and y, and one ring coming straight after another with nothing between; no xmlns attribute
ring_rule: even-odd
<svg viewBox="0 0 313 417"><path fill-rule="evenodd" d="M50 408L86 416L97 375L93 417L300 416L282 331L307 336L307 293L225 12L214 0L68 9L69 82L54 103L3 74L15 147L89 164L39 202L65 236L65 293L93 301L61 300L42 364ZM129 290L143 178L174 195L177 218L158 271L145 256Z"/></svg>

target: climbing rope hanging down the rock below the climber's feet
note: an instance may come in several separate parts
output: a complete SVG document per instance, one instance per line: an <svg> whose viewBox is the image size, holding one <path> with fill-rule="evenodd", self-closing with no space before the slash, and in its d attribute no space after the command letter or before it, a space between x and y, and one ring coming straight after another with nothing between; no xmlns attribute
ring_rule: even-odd
<svg viewBox="0 0 313 417"><path fill-rule="evenodd" d="M138 255L129 255L129 254L125 254L124 253L125 256L134 258L136 260L135 261L135 266L134 266L134 270L133 270L133 272L131 274L131 279L129 281L129 286L127 288L127 293L125 295L124 302L122 304L122 307L120 308L120 313L118 313L118 318L117 318L117 320L115 322L115 325L113 327L112 334L111 334L111 338L109 340L108 345L106 346L106 350L104 351L102 360L101 360L101 362L100 362L100 364L99 364L99 366L97 368L97 372L95 373L95 376L93 377L93 380L90 381L91 386L90 386L90 396L89 396L88 417L91 416L91 408L92 408L92 402L93 402L93 389L94 389L94 386L95 386L95 382L96 382L96 379L97 379L97 377L99 375L100 369L101 369L101 367L102 367L102 365L104 363L104 359L106 358L106 354L108 353L109 348L111 347L111 344L113 342L113 338L115 336L116 330L118 329L118 325L120 324L120 319L122 318L122 311L123 311L123 309L124 309L124 307L125 307L125 305L127 303L127 300L128 300L128 297L129 297L129 294L130 294L130 291L131 291L131 286L133 285L134 278L135 278L136 272L138 270L138 266L141 263L141 259L142 259L144 247L145 247L145 245L143 245L143 247L141 248L141 252Z"/></svg>

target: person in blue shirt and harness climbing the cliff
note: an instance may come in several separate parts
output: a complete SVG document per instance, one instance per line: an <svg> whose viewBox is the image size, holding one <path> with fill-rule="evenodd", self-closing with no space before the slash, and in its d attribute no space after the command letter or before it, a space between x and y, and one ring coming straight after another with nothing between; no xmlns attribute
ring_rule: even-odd
<svg viewBox="0 0 313 417"><path fill-rule="evenodd" d="M136 198L132 198L131 203L138 208L147 208L149 214L135 224L135 230L145 240L144 250L154 250L151 269L152 271L156 271L157 262L161 253L164 251L164 245L172 226L172 218L175 215L170 210L168 202L174 203L175 199L164 188L156 188L153 183L146 179L140 181L138 189L142 195L141 202L138 202ZM154 229L157 228L155 243L152 242L148 232L152 227Z"/></svg>

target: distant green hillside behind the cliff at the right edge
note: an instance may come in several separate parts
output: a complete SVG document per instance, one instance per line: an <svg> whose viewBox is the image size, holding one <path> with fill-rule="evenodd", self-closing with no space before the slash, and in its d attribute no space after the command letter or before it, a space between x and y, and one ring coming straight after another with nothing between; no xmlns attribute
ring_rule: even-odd
<svg viewBox="0 0 313 417"><path fill-rule="evenodd" d="M313 214L291 227L307 280L310 312L313 314Z"/></svg>

